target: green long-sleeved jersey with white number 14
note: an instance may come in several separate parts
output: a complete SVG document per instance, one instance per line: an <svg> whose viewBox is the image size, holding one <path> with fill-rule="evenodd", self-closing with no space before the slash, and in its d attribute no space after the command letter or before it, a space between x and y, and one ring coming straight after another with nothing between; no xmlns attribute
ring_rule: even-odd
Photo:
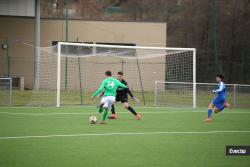
<svg viewBox="0 0 250 167"><path fill-rule="evenodd" d="M103 89L105 89L103 96L114 96L115 97L116 90L118 89L118 87L127 88L126 85L124 85L123 83L121 83L117 79L112 78L112 77L108 77L102 81L102 85L93 94L93 97L96 97L97 95L99 95Z"/></svg>

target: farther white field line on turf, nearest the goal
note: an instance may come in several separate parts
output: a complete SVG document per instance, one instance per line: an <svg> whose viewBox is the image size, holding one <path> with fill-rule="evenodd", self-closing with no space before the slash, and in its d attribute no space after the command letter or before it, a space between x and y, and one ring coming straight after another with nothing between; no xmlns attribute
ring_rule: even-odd
<svg viewBox="0 0 250 167"><path fill-rule="evenodd" d="M140 114L173 114L173 113L205 113L206 111L149 111L149 112L139 112ZM224 114L250 114L250 112L222 112ZM8 115L27 115L27 116L46 116L46 115L95 115L97 112L68 112L68 113L59 113L59 112L51 112L51 113L18 113L18 112L0 112L0 114L8 114ZM118 114L129 114L129 112L118 112Z"/></svg>

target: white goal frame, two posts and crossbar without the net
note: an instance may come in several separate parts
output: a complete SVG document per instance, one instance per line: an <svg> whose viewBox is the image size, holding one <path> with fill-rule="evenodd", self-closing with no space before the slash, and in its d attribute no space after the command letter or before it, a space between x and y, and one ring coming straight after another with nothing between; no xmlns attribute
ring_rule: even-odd
<svg viewBox="0 0 250 167"><path fill-rule="evenodd" d="M57 50L57 83L56 83L56 107L60 107L60 92L61 92L61 46L88 46L88 47L103 47L103 48L123 48L123 49L149 49L149 50L180 50L192 51L193 53L193 108L196 108L196 49L195 48L175 48L175 47L147 47L147 46L122 46L122 45L103 45L103 44L86 44L86 43L70 43L58 42Z"/></svg>

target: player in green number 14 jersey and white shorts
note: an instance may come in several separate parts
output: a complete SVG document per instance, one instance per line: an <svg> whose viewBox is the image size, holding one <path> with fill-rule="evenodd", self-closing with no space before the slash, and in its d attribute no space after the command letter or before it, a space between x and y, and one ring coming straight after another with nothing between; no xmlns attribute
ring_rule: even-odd
<svg viewBox="0 0 250 167"><path fill-rule="evenodd" d="M126 85L122 84L119 80L112 77L111 71L106 71L105 76L106 79L102 81L102 84L99 89L92 95L92 98L95 98L103 90L105 90L101 99L101 104L103 104L104 113L102 115L102 122L100 122L100 124L105 124L105 120L108 115L108 109L110 109L115 102L116 90L118 89L118 87L124 89L127 88ZM100 109L99 112L102 113L103 110Z"/></svg>

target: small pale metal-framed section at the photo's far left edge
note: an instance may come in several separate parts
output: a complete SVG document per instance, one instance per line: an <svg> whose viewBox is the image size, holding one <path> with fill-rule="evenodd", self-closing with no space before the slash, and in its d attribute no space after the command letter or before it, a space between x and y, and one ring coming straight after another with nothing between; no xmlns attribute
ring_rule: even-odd
<svg viewBox="0 0 250 167"><path fill-rule="evenodd" d="M0 106L12 105L12 78L0 78Z"/></svg>

